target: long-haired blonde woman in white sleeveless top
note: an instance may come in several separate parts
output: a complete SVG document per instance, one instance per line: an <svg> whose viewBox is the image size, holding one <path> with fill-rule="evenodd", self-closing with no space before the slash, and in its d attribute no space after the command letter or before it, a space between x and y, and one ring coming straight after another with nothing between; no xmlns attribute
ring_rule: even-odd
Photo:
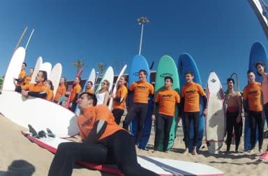
<svg viewBox="0 0 268 176"><path fill-rule="evenodd" d="M110 82L107 79L103 80L101 83L101 89L96 93L97 104L107 105L107 102L109 100L109 86Z"/></svg>

